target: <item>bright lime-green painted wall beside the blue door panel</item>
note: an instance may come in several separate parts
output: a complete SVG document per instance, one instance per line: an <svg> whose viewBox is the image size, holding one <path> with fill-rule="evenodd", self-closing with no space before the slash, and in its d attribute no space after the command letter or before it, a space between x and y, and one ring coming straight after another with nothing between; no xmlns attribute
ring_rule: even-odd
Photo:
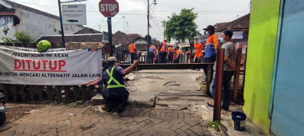
<svg viewBox="0 0 304 136"><path fill-rule="evenodd" d="M267 135L279 8L280 0L251 2L244 112Z"/></svg>

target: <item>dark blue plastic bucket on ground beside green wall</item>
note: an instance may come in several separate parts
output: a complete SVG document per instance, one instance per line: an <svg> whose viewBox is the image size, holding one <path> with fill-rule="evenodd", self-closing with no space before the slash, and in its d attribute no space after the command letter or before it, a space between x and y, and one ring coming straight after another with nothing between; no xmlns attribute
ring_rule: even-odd
<svg viewBox="0 0 304 136"><path fill-rule="evenodd" d="M238 109L242 109L242 108L238 108ZM234 129L237 131L244 131L247 116L245 113L243 113L244 111L238 112L237 111L238 109L236 109L234 112L231 113L231 117L234 122Z"/></svg>

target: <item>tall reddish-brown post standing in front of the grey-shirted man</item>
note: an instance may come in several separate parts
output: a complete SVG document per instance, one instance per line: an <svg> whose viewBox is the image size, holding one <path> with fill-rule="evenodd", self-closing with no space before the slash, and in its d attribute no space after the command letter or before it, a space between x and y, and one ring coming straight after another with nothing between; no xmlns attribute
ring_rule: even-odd
<svg viewBox="0 0 304 136"><path fill-rule="evenodd" d="M217 49L213 121L216 120L219 121L221 118L223 74L224 74L223 70L224 70L224 57L225 57L224 52L225 49Z"/></svg>

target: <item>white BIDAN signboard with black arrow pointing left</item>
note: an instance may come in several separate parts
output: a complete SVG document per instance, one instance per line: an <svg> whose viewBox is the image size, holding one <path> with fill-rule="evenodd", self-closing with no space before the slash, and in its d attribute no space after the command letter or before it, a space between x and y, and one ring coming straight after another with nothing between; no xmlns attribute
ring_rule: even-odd
<svg viewBox="0 0 304 136"><path fill-rule="evenodd" d="M85 4L61 5L62 24L66 25L86 25L87 13Z"/></svg>

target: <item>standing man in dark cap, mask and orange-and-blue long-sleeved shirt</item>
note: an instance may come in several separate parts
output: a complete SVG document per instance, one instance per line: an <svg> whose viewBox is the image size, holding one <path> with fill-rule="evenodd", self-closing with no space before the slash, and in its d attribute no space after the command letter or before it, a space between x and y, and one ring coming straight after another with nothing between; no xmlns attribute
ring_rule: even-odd
<svg viewBox="0 0 304 136"><path fill-rule="evenodd" d="M204 28L205 34L208 35L206 46L205 46L205 57L204 57L204 63L214 63L216 60L216 49L218 48L219 44L219 37L214 33L215 28L213 25L208 25L206 28ZM203 84L206 84L207 81L207 68L204 68L205 73L205 82ZM211 69L211 73L213 75L213 70Z"/></svg>

